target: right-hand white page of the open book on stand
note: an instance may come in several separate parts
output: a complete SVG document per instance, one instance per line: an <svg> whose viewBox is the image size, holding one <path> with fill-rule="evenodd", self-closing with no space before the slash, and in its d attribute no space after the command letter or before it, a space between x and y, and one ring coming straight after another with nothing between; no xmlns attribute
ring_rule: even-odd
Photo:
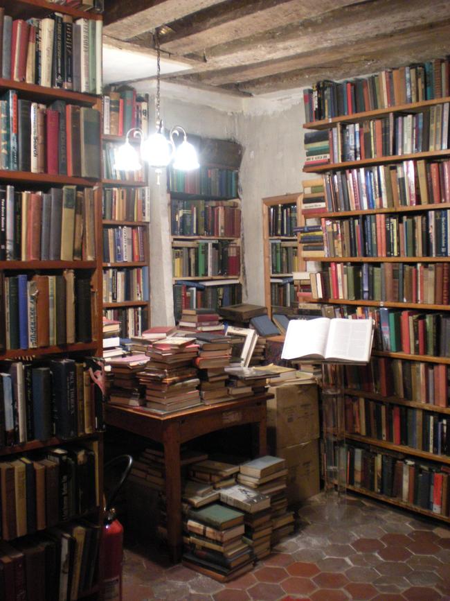
<svg viewBox="0 0 450 601"><path fill-rule="evenodd" d="M371 319L332 320L325 358L367 363L372 348L372 331Z"/></svg>

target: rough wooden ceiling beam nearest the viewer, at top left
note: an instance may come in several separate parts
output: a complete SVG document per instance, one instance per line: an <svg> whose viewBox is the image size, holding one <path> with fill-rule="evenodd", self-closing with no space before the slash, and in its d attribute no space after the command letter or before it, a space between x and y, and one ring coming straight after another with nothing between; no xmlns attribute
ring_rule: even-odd
<svg viewBox="0 0 450 601"><path fill-rule="evenodd" d="M103 31L118 40L130 40L191 12L221 3L223 0L108 0Z"/></svg>

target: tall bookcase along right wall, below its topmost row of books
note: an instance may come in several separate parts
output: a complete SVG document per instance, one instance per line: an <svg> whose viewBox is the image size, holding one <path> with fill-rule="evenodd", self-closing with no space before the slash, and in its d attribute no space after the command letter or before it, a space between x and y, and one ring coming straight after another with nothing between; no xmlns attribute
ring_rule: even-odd
<svg viewBox="0 0 450 601"><path fill-rule="evenodd" d="M321 223L325 247L304 256L317 262L310 273L312 302L329 317L373 317L377 325L370 365L345 369L345 446L337 452L349 466L347 488L447 523L449 102L443 95L303 126L328 130L338 158L303 168L323 174L326 204L326 212L308 215ZM438 149L344 159L346 125L361 132L367 122L390 120L384 143L395 146L393 124L408 115L429 119L430 111ZM420 134L415 130L415 141Z"/></svg>

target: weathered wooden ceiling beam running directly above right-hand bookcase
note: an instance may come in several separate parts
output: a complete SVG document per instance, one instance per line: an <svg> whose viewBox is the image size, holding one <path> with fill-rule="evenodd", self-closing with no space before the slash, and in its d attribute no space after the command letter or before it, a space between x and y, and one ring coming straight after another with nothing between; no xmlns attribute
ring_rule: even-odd
<svg viewBox="0 0 450 601"><path fill-rule="evenodd" d="M230 85L241 92L266 94L281 89L312 85L321 79L341 80L376 73L381 69L401 67L413 62L431 60L449 51L450 19L444 23L404 37L403 32L391 37L367 40L364 44L343 45L323 53L301 69Z"/></svg>

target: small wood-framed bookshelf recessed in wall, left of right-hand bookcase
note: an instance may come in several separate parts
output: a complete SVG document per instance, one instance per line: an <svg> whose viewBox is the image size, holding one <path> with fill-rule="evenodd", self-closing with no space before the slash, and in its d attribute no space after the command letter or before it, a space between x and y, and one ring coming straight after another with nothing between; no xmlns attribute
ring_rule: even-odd
<svg viewBox="0 0 450 601"><path fill-rule="evenodd" d="M296 306L293 271L303 269L294 227L300 223L302 194L262 199L264 245L264 304L273 311L291 311ZM291 267L291 270L287 270Z"/></svg>

